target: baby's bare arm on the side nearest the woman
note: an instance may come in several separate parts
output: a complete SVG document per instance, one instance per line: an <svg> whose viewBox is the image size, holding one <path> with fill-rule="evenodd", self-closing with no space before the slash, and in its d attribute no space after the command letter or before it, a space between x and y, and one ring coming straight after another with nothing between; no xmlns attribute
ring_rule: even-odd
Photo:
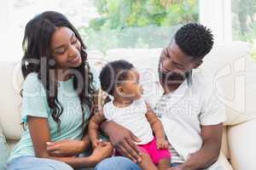
<svg viewBox="0 0 256 170"><path fill-rule="evenodd" d="M91 117L89 122L89 136L93 148L100 143L98 139L98 130L102 122L106 121L106 117L103 114L103 111L98 111L94 116Z"/></svg>

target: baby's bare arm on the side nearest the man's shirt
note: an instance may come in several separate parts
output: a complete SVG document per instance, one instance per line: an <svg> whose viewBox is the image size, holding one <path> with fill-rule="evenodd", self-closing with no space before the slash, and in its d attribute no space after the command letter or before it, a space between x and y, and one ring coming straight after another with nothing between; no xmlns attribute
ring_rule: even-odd
<svg viewBox="0 0 256 170"><path fill-rule="evenodd" d="M154 111L150 108L149 105L147 105L147 108L148 112L146 113L146 117L154 132L158 149L168 149L168 142L166 141L165 131L162 123L154 114Z"/></svg>

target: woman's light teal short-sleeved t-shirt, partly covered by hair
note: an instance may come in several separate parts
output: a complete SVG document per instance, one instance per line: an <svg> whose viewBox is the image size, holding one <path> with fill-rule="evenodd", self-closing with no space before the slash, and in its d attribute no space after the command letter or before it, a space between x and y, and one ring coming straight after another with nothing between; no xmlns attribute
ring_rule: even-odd
<svg viewBox="0 0 256 170"><path fill-rule="evenodd" d="M99 81L96 71L92 69L94 77L94 86L99 88ZM73 88L74 77L67 82L58 83L58 100L60 101L63 112L61 119L61 133L58 132L57 123L50 114L50 108L47 102L45 89L42 82L38 79L37 73L30 73L23 84L22 112L21 118L23 122L27 122L27 116L45 117L49 122L51 141L59 141L62 139L82 139L82 109L80 105L79 95ZM84 122L88 122L90 116L87 108L84 113ZM9 156L9 161L20 156L35 156L32 139L28 127L22 133L21 139L15 145L14 150Z"/></svg>

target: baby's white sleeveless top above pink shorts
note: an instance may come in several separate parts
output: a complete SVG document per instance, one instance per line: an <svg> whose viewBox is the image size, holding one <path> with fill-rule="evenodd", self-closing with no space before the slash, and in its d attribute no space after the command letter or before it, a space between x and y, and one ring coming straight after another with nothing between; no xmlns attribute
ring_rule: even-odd
<svg viewBox="0 0 256 170"><path fill-rule="evenodd" d="M134 100L131 105L118 108L113 105L113 100L103 106L103 114L108 121L113 121L128 128L141 139L137 144L148 144L154 139L146 113L147 105L143 98Z"/></svg>

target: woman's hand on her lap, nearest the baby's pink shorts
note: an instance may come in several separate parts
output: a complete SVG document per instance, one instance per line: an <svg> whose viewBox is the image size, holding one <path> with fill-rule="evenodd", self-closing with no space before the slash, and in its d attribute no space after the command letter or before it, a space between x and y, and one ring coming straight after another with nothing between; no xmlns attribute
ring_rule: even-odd
<svg viewBox="0 0 256 170"><path fill-rule="evenodd" d="M113 155L113 146L110 142L100 142L90 155L91 160L96 163Z"/></svg>

